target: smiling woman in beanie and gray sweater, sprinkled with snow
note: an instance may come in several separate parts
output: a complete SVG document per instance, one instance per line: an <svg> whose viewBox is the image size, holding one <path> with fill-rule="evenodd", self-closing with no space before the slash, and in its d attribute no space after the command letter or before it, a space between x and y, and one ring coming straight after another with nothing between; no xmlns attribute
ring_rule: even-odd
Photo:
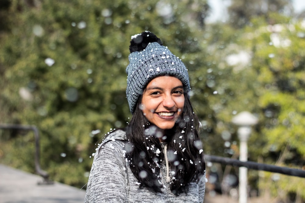
<svg viewBox="0 0 305 203"><path fill-rule="evenodd" d="M131 39L133 116L96 149L85 202L203 202L205 161L187 69L153 33Z"/></svg>

